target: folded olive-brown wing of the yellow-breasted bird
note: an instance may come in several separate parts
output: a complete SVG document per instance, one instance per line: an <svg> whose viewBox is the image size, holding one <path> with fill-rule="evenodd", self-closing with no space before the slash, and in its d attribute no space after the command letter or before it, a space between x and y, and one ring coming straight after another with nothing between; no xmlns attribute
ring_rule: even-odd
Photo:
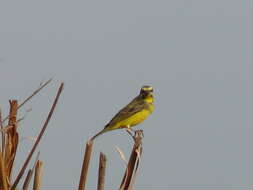
<svg viewBox="0 0 253 190"><path fill-rule="evenodd" d="M138 97L136 97L128 105L126 105L123 109L121 109L106 125L106 127L114 125L115 123L118 123L120 121L123 121L124 119L134 115L135 113L145 109L146 107L147 104Z"/></svg>

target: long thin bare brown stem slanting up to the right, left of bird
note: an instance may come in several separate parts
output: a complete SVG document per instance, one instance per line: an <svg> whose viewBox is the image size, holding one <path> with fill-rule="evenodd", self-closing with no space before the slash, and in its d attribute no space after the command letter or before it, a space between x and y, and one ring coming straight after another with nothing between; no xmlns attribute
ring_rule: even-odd
<svg viewBox="0 0 253 190"><path fill-rule="evenodd" d="M45 123L44 123L44 125L43 125L43 127L42 127L42 129L41 129L41 131L40 131L40 133L39 133L39 135L38 135L38 138L36 139L36 141L35 141L35 143L34 143L32 149L31 149L29 155L27 156L26 161L25 161L25 163L24 163L22 169L21 169L20 172L18 173L18 176L17 176L15 182L13 183L13 185L12 185L12 187L11 187L11 190L14 190L14 189L16 188L16 186L17 186L17 184L19 183L21 177L23 176L23 174L24 174L24 172L25 172L25 170L26 170L26 168L27 168L27 165L28 165L29 161L31 160L31 157L32 157L32 155L33 155L35 149L37 148L37 146L38 146L38 144L39 144L39 142L40 142L40 139L41 139L41 137L43 136L43 134L44 134L44 132L45 132L45 130L46 130L46 128L47 128L47 125L48 125L48 123L49 123L49 121L50 121L50 119L51 119L51 117L52 117L52 115L53 115L53 112L54 112L54 110L55 110L55 107L56 107L56 105L57 105L57 102L58 102L58 100L59 100L59 97L60 97L60 95L61 95L61 93L62 93L63 86L64 86L64 83L61 83L61 85L60 85L60 87L59 87L59 89L58 89L57 95L56 95L56 97L55 97L54 103L53 103L53 105L52 105L52 107L51 107L51 109L50 109L50 112L49 112L48 116L47 116L47 119L46 119L46 121L45 121Z"/></svg>

